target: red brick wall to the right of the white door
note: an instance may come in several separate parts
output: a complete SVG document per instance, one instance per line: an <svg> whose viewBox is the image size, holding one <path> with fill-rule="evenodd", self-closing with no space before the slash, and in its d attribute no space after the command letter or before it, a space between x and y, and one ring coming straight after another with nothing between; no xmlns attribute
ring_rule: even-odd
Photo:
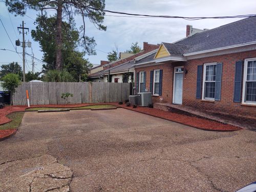
<svg viewBox="0 0 256 192"><path fill-rule="evenodd" d="M188 73L183 81L183 104L218 113L256 118L256 106L244 106L241 103L233 102L236 61L252 57L256 57L256 51L188 60L185 65ZM196 99L197 66L209 62L223 63L220 101L205 102Z"/></svg>

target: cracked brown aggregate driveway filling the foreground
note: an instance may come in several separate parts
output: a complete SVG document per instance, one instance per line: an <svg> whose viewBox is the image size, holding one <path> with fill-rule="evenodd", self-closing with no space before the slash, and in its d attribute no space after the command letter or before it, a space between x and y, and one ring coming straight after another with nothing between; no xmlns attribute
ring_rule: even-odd
<svg viewBox="0 0 256 192"><path fill-rule="evenodd" d="M125 109L27 112L0 142L0 191L235 191L256 132L208 132Z"/></svg>

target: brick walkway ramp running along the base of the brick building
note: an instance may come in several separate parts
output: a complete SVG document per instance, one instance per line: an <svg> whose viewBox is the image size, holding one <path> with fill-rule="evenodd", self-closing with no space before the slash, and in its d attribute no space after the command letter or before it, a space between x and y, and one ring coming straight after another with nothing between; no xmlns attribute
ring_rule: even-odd
<svg viewBox="0 0 256 192"><path fill-rule="evenodd" d="M217 122L221 122L224 124L230 124L233 126L241 127L242 129L256 131L256 120L252 119L243 119L243 118L232 118L230 116L218 115L211 112L204 112L197 108L193 108L191 106L177 105L177 104L169 104L169 103L155 103L155 108L160 108L166 111L182 113L187 115L193 115L197 117L206 118L209 120L214 120Z"/></svg>

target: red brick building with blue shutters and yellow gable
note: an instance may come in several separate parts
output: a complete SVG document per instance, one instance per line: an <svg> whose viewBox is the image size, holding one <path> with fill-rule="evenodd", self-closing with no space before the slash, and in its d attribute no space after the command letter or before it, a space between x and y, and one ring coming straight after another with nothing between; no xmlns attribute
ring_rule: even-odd
<svg viewBox="0 0 256 192"><path fill-rule="evenodd" d="M155 103L256 119L255 24L250 17L163 42L135 59L137 92L152 92Z"/></svg>

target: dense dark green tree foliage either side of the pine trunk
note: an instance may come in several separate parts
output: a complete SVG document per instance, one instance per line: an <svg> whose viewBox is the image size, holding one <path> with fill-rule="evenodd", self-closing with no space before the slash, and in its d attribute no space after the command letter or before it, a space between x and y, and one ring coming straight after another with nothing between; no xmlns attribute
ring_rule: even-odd
<svg viewBox="0 0 256 192"><path fill-rule="evenodd" d="M55 69L56 66L55 28L51 27L56 23L56 17L44 17L44 19L37 17L38 25L36 30L31 31L31 34L34 40L39 42L41 51L44 52L43 60L47 65L42 67L46 72ZM72 21L63 22L63 26L65 28L62 28L62 68L68 71L75 81L86 81L87 72L92 64L83 58L84 52L78 51L79 32Z"/></svg>

